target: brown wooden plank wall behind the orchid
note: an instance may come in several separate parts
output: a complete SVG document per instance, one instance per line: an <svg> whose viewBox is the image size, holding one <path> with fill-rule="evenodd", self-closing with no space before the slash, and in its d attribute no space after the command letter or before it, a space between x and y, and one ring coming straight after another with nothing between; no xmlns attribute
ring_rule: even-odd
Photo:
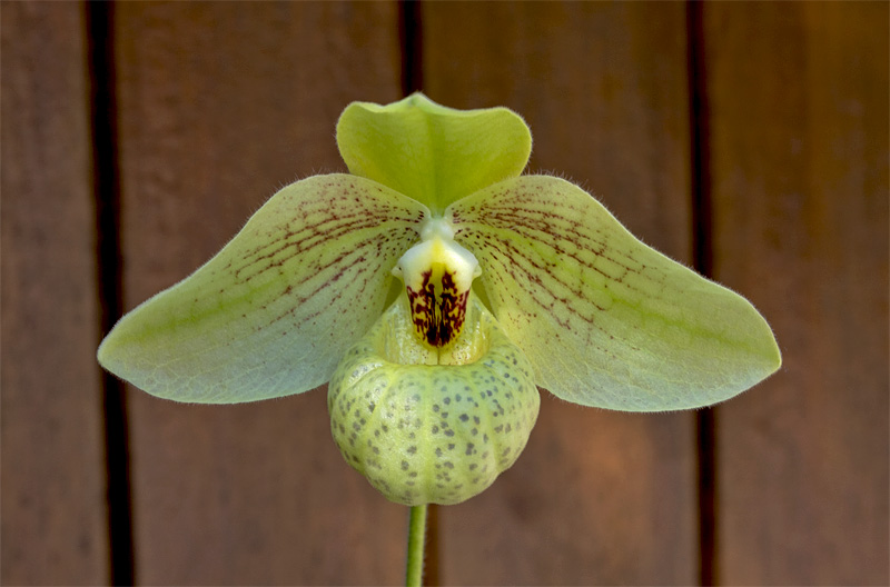
<svg viewBox="0 0 890 587"><path fill-rule="evenodd" d="M110 161L90 158L85 4L1 10L0 583L102 584L120 559L93 360L100 163L120 176L129 309L280 186L342 170L340 110L398 99L406 61L437 101L521 112L531 171L580 182L689 263L704 192L711 270L763 311L785 361L714 410L713 544L694 414L544 391L518 462L437 509L429 578L685 585L704 563L722 585L890 581L887 3L113 4ZM138 584L402 580L406 508L343 461L324 389L239 407L125 397Z"/></svg>

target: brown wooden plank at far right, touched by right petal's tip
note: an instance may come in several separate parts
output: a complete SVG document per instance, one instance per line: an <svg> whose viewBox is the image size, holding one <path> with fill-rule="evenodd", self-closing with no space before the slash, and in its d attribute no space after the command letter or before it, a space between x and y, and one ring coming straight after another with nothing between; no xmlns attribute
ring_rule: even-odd
<svg viewBox="0 0 890 587"><path fill-rule="evenodd" d="M718 578L887 585L888 4L705 4L714 270L782 370L718 414Z"/></svg>

